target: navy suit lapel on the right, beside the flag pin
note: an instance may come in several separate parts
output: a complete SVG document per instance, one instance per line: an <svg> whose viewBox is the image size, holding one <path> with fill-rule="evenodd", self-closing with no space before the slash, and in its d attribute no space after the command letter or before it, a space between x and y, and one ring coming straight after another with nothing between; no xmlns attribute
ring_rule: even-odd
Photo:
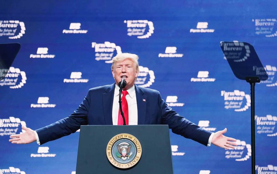
<svg viewBox="0 0 277 174"><path fill-rule="evenodd" d="M146 117L146 96L140 87L135 85L136 97L137 97L137 124L145 124Z"/></svg>

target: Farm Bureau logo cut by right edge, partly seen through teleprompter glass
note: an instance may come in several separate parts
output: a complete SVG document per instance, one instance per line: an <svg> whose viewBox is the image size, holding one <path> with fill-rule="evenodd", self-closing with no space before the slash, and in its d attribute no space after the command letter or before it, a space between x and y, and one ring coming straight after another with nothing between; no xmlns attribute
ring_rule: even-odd
<svg viewBox="0 0 277 174"><path fill-rule="evenodd" d="M260 81L260 83L258 83L258 84L266 84L266 86L268 86L268 87L277 86L277 80L276 80L276 77L275 77L276 74L277 74L276 66L266 65L264 67L264 69L266 70L266 73L268 75L268 79L264 80L264 81ZM263 69L258 68L258 67L253 67L253 70L256 71L257 74L264 73ZM261 74L261 75L263 75L263 74Z"/></svg>

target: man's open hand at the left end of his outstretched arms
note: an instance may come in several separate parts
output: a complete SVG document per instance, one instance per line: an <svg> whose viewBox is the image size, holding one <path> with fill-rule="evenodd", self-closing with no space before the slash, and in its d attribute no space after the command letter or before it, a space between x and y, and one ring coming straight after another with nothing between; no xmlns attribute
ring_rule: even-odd
<svg viewBox="0 0 277 174"><path fill-rule="evenodd" d="M27 128L26 126L22 126L22 130L25 130L25 132L22 134L11 135L9 141L13 144L28 144L37 141L34 130Z"/></svg>

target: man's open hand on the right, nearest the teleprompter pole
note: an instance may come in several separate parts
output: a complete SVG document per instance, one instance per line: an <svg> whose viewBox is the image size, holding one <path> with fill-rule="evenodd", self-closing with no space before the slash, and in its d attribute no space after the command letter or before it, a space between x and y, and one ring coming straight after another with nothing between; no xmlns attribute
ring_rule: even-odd
<svg viewBox="0 0 277 174"><path fill-rule="evenodd" d="M234 146L237 146L237 144L235 143L236 139L224 136L223 134L226 132L226 128L221 131L215 132L214 136L212 137L212 144L227 150L234 149Z"/></svg>

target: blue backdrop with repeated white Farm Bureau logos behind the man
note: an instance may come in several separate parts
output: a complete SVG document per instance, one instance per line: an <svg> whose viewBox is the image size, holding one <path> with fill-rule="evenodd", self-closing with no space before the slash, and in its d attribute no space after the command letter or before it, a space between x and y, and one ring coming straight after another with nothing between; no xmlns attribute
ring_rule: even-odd
<svg viewBox="0 0 277 174"><path fill-rule="evenodd" d="M174 173L251 173L250 86L233 75L221 41L251 43L269 79L256 85L256 170L277 173L276 1L3 1L0 42L21 50L0 81L0 173L74 173L79 132L15 145L70 115L89 88L112 84L111 57L139 55L136 84L180 115L238 139L234 150L173 133ZM2 70L4 71L4 70ZM2 72L0 71L0 72Z"/></svg>

